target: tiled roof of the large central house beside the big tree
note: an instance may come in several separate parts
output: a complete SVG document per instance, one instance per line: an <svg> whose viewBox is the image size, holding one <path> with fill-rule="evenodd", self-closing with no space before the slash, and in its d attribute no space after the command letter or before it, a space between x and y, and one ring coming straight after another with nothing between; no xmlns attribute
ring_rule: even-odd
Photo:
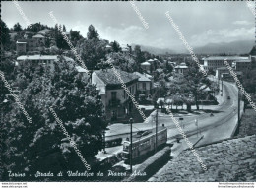
<svg viewBox="0 0 256 188"><path fill-rule="evenodd" d="M135 81L139 79L139 76L133 73L127 73L125 71L121 71L116 69L116 71L120 74L120 77L124 83L129 83L131 81ZM120 81L118 77L115 75L112 69L104 69L94 71L98 78L100 78L106 85L120 85Z"/></svg>

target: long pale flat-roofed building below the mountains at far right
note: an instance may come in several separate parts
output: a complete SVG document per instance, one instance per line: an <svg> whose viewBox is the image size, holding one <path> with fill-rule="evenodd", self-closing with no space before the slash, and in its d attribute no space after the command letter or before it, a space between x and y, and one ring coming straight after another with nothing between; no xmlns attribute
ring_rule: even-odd
<svg viewBox="0 0 256 188"><path fill-rule="evenodd" d="M240 57L240 56L211 56L202 58L204 61L204 69L206 71L216 71L217 68L225 67L224 60L226 60L229 65L232 65L232 62L239 60L248 60L249 57Z"/></svg>

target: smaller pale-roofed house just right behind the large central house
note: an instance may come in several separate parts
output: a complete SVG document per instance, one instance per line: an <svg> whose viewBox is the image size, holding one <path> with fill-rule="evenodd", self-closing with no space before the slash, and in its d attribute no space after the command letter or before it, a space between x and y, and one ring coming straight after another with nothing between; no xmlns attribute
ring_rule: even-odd
<svg viewBox="0 0 256 188"><path fill-rule="evenodd" d="M133 73L139 76L138 83L137 83L137 92L138 94L152 94L153 90L153 81L147 77L146 74L141 74L139 72Z"/></svg>

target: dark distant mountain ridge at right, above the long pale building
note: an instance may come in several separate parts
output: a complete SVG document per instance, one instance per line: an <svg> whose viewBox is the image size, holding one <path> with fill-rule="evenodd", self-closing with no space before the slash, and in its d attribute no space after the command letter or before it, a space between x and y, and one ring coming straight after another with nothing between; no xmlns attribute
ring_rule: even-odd
<svg viewBox="0 0 256 188"><path fill-rule="evenodd" d="M245 54L249 53L254 46L252 40L240 40L229 43L209 43L203 47L194 48L195 54Z"/></svg>

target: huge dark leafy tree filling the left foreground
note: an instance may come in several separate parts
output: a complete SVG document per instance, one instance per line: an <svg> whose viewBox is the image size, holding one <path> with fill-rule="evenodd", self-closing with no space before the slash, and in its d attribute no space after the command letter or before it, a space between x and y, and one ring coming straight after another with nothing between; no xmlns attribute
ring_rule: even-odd
<svg viewBox="0 0 256 188"><path fill-rule="evenodd" d="M106 127L96 86L81 80L75 67L66 62L54 63L53 72L47 66L34 68L29 63L27 66L26 72L21 69L19 74L28 77L30 83L19 97L33 122L28 122L17 104L11 104L12 110L3 120L5 171L35 174L36 171L85 170L49 107L53 107L81 154L91 164L102 149L101 132Z"/></svg>

